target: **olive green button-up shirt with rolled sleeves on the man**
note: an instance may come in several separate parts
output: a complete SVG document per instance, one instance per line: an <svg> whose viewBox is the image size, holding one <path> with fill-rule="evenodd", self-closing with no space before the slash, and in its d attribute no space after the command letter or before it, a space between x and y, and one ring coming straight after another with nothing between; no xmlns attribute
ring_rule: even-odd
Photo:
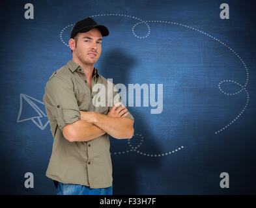
<svg viewBox="0 0 256 208"><path fill-rule="evenodd" d="M108 100L115 104L118 95L115 85L98 74L94 68L91 86L111 86L113 96ZM109 85L112 84L112 85ZM53 135L53 147L46 176L62 183L85 185L90 188L106 188L112 185L112 163L107 133L87 142L69 142L63 136L63 127L81 119L79 110L107 114L113 105L106 99L105 106L95 107L93 97L98 92L90 89L87 78L79 64L72 60L56 70L46 83L43 97L46 113ZM106 97L107 98L107 97ZM119 95L119 101L121 101ZM134 120L128 112L127 118Z"/></svg>

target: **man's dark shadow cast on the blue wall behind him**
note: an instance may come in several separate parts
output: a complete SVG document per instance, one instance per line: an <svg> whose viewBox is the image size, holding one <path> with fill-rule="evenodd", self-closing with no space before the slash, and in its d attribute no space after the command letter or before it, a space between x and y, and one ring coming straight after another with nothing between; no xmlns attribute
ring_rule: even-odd
<svg viewBox="0 0 256 208"><path fill-rule="evenodd" d="M106 77L106 79L113 79L114 84L122 83L128 88L128 83L133 83L132 77L130 77L130 72L134 69L136 61L137 60L134 57L126 53L123 49L115 48L104 53L102 56L102 64L98 71L101 75ZM143 83L147 83L147 81L144 81ZM143 135L143 149L147 146L151 147L150 149L154 149L154 153L161 152L156 140L154 140L153 133L150 132L147 120L143 120L143 116L139 112L141 107L137 110L132 107L126 107L134 116L134 133ZM111 142L111 152L124 151L124 149L125 151L130 151L127 140L117 140L111 136L109 136L109 138ZM134 145L135 147L139 144L139 139L133 137L130 142L136 143ZM113 163L113 194L140 194L143 187L139 187L137 182L141 181L143 177L150 175L150 170L156 170L160 162L159 157L148 157L140 155L135 151L120 155L112 154L111 158ZM142 175L141 173L145 171L147 172L147 175ZM145 184L147 185L147 183ZM150 183L148 185L150 186ZM147 189L149 188L150 187L147 187Z"/></svg>

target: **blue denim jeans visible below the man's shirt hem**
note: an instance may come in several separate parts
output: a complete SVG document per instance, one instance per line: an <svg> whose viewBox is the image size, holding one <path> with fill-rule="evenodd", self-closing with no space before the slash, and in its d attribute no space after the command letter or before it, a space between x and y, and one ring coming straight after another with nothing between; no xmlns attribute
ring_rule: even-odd
<svg viewBox="0 0 256 208"><path fill-rule="evenodd" d="M90 188L84 185L59 182L57 195L113 195L112 186L107 188Z"/></svg>

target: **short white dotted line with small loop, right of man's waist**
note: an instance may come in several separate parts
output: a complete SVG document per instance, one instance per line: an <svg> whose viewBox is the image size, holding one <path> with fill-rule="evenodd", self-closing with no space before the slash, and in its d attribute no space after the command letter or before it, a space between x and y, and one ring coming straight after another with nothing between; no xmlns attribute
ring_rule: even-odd
<svg viewBox="0 0 256 208"><path fill-rule="evenodd" d="M143 142L143 136L142 135L139 135L139 134L134 134L134 136L140 136L141 137L141 140L139 142L139 144L135 147L132 146L132 144L130 144L130 139L128 139L128 146L130 147L130 150L126 150L126 151L115 151L113 153L110 153L110 155L121 155L121 154L125 154L125 153L129 153L131 151L135 151L135 153L139 153L140 155L144 155L144 156L147 156L147 157L161 157L161 156L166 156L166 155L171 155L171 153L175 153L177 152L178 150L184 148L184 146L181 146L180 148L177 148L177 149L174 149L173 151L167 151L166 153L161 153L161 154L150 154L150 153L144 153L143 151L139 151L137 150L137 148L139 148Z"/></svg>

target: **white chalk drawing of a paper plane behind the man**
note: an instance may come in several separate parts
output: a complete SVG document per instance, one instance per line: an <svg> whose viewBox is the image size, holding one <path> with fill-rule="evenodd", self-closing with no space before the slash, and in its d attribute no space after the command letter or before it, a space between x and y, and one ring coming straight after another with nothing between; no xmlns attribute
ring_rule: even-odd
<svg viewBox="0 0 256 208"><path fill-rule="evenodd" d="M29 103L29 105L35 110L36 114L38 114L38 116L33 116L31 118L25 118L23 120L20 120L20 116L21 116L21 111L22 111L22 104L23 104L23 100L27 101L27 103ZM47 124L49 123L46 122L44 125L42 123L42 121L40 120L40 118L43 118L43 116L47 117L47 114L44 113L43 110L41 110L36 104L35 102L41 103L42 105L44 105L44 103L42 101L39 101L38 99L32 98L31 96L27 96L26 94L20 94L20 112L17 118L17 122L25 122L27 120L32 120L33 123L36 124L36 126L41 129L44 130L47 126Z"/></svg>

